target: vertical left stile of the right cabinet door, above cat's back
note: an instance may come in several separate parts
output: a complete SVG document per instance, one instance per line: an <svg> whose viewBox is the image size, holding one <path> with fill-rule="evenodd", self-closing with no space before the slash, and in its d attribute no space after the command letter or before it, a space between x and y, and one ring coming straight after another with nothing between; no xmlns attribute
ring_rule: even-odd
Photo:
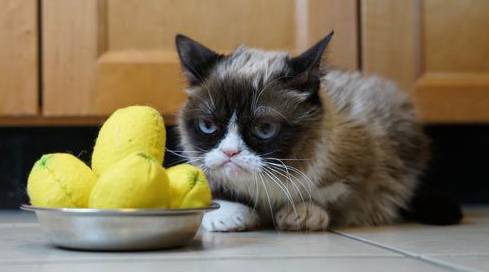
<svg viewBox="0 0 489 272"><path fill-rule="evenodd" d="M418 1L363 0L362 70L413 87L419 75Z"/></svg>

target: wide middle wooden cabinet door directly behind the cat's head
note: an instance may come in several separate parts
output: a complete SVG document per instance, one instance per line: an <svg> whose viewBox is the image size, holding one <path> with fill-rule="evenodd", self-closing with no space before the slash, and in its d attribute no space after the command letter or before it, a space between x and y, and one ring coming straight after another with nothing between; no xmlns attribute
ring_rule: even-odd
<svg viewBox="0 0 489 272"><path fill-rule="evenodd" d="M338 2L44 0L43 113L104 116L145 104L172 119L186 98L177 33L218 52L244 43L297 53L335 29L329 59L357 69L356 0Z"/></svg>

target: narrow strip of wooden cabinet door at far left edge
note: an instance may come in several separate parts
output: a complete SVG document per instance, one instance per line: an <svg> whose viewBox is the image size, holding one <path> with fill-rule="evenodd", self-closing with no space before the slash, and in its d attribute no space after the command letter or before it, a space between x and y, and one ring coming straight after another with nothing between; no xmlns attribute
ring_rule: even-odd
<svg viewBox="0 0 489 272"><path fill-rule="evenodd" d="M0 2L0 116L38 111L36 3Z"/></svg>

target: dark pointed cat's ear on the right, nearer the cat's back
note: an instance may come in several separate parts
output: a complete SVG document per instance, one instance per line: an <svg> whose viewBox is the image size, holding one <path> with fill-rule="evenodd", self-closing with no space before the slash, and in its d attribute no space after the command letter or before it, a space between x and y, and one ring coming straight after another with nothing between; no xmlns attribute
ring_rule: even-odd
<svg viewBox="0 0 489 272"><path fill-rule="evenodd" d="M307 71L318 69L321 64L321 57L326 46L328 46L329 41L333 37L333 34L334 31L331 31L326 37L316 43L313 47L309 48L306 52L290 59L290 74L292 76L298 76Z"/></svg>

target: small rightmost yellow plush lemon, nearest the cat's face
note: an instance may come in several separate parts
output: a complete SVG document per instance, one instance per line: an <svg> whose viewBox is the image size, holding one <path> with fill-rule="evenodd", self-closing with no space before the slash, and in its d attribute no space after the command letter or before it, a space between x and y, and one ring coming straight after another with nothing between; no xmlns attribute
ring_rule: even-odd
<svg viewBox="0 0 489 272"><path fill-rule="evenodd" d="M204 172L190 164L167 169L170 180L170 208L209 207L211 190Z"/></svg>

